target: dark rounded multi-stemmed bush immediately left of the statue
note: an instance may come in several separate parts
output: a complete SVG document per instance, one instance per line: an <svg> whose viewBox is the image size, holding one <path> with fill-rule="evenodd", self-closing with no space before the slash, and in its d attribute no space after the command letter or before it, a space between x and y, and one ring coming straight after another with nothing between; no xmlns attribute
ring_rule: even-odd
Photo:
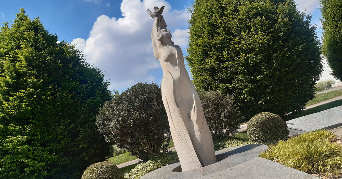
<svg viewBox="0 0 342 179"><path fill-rule="evenodd" d="M161 89L156 84L140 82L117 93L100 108L96 125L108 142L143 161L159 155L162 143L170 140Z"/></svg>

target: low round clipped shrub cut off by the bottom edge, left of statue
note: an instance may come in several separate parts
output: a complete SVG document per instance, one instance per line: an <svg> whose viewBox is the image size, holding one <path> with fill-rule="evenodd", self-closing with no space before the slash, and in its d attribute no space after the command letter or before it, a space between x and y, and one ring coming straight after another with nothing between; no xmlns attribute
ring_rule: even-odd
<svg viewBox="0 0 342 179"><path fill-rule="evenodd" d="M124 179L119 168L109 162L97 162L90 165L83 173L81 179Z"/></svg>

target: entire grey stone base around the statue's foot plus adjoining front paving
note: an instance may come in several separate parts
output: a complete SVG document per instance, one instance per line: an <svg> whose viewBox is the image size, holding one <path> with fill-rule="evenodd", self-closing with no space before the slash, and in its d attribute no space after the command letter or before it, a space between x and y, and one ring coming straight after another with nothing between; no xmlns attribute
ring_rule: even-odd
<svg viewBox="0 0 342 179"><path fill-rule="evenodd" d="M267 145L248 144L215 152L217 163L181 171L180 163L156 169L142 179L319 179L305 172L259 157Z"/></svg>

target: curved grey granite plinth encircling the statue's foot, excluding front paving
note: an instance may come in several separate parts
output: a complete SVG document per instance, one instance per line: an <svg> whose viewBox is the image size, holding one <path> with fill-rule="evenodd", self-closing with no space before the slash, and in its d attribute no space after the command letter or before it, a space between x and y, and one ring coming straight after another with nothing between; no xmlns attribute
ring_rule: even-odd
<svg viewBox="0 0 342 179"><path fill-rule="evenodd" d="M229 147L222 150L215 151L216 163L197 168L195 170L181 171L180 162L177 161L173 164L166 165L162 168L153 170L146 175L142 176L142 179L190 179L199 178L206 175L213 174L225 170L227 168L239 165L247 162L264 152L267 149L267 145L263 144L248 144L239 145L235 147Z"/></svg>

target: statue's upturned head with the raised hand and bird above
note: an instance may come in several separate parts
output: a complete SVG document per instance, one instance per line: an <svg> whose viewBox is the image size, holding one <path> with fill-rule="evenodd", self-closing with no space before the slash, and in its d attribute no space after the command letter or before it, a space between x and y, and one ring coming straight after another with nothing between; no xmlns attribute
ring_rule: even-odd
<svg viewBox="0 0 342 179"><path fill-rule="evenodd" d="M170 31L166 28L166 23L164 20L164 17L161 15L161 13L164 10L164 7L158 8L154 7L154 12L151 12L150 10L147 10L148 14L155 19L155 22L152 27L152 37L155 37L159 41L164 41L168 38L171 38L172 35Z"/></svg>

